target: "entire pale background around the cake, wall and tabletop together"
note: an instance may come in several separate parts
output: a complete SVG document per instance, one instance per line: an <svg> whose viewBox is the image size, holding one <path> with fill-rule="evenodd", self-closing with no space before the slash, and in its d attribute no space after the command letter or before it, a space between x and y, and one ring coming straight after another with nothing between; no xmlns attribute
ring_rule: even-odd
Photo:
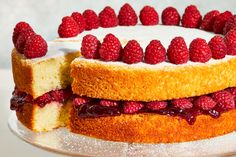
<svg viewBox="0 0 236 157"><path fill-rule="evenodd" d="M144 5L151 5L161 15L167 6L175 6L182 15L189 4L198 6L202 15L217 9L230 10L236 13L236 0L158 0L158 1L128 1L137 13ZM11 41L12 31L19 21L26 21L46 40L56 38L57 28L61 18L70 15L73 11L83 12L92 8L97 13L106 5L113 7L118 13L125 1L118 0L0 0L0 156L27 157L27 156L55 156L38 148L34 148L16 138L7 128L7 119L10 114L9 99L14 87L10 72L10 51L13 48ZM7 68L9 70L1 70Z"/></svg>

